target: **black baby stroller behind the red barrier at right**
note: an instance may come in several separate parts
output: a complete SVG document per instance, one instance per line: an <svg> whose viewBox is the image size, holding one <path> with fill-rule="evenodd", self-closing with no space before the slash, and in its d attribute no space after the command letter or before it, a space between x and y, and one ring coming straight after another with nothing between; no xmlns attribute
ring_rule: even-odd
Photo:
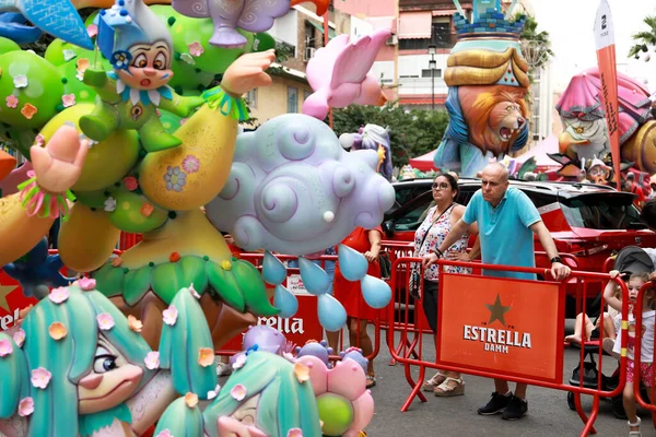
<svg viewBox="0 0 656 437"><path fill-rule="evenodd" d="M620 250L618 257L614 262L614 269L622 272L624 274L640 273L646 272L651 273L654 271L654 263L649 256L637 246L629 246ZM593 304L593 308L599 306L599 300L601 296L599 295L596 302ZM595 326L597 324L597 319L599 319L600 315L597 315L595 319ZM595 335L596 334L596 335ZM588 389L597 389L597 383L599 381L599 374L601 369L597 366L597 361L595 356L599 353L599 333L597 330L593 331L591 338L589 341L586 341L583 345L577 343L571 343L571 346L581 350L583 347L583 362L572 370L572 375L570 376L570 385L578 387L583 385L583 387ZM610 358L610 354L606 351L602 351L605 355L608 355ZM582 369L583 365L583 369ZM611 376L606 376L601 373L601 381L600 388L604 391L612 391L618 387L619 383L619 364L614 369ZM641 387L641 394L643 399L649 399L647 395L647 391L645 387ZM620 393L616 398L610 399L612 402L612 412L618 418L626 418L626 413L624 412L624 405L622 403L622 394ZM576 410L574 404L574 393L567 392L567 405L571 410Z"/></svg>

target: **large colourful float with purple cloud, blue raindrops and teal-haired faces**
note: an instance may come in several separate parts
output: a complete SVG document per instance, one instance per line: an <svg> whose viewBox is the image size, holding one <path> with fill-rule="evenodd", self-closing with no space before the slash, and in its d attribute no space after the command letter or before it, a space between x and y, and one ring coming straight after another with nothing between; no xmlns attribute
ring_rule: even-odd
<svg viewBox="0 0 656 437"><path fill-rule="evenodd" d="M96 58L61 40L42 58L0 40L0 102L8 108L0 111L1 134L31 158L33 168L28 175L30 167L14 170L11 180L17 182L20 175L28 179L0 199L0 265L9 264L25 285L35 280L31 286L37 294L42 285L73 281L55 272L59 260L44 250L43 237L61 217L60 260L93 277L44 291L34 308L22 311L12 335L0 333L0 433L56 436L66 429L119 437L140 435L159 420L160 436L241 430L356 435L373 414L359 361L344 356L341 370L317 373L315 383L308 366L292 363L290 356L253 352L258 349L254 344L244 359L235 359L237 371L219 390L214 350L255 324L257 316L289 316L297 307L282 286L284 267L270 251L311 255L339 243L353 226L382 221L394 202L394 189L376 173L377 151L347 153L326 125L304 115L279 117L257 132L238 134L237 123L247 117L239 96L271 81L265 70L273 51L245 54L257 50L256 42L261 42L259 48L266 46L266 37L247 36L251 39L244 48L225 51L234 58L224 64L223 59L203 58L224 50L207 46L211 20L153 7L154 14L148 15L152 34L147 35L130 25L143 24L137 16L143 10L149 11L140 0L118 0L116 8L87 22L98 43L112 35L112 25L114 38L119 29L132 32L136 39L120 46L129 54L121 54L125 59L114 57L120 37L113 40L109 59L102 56L107 50ZM114 12L114 19L124 17L120 26L109 20ZM165 33L153 37L163 23L173 39ZM189 36L185 28L190 27L203 33ZM153 109L151 116L160 117L162 128L179 141L175 147L149 147L131 126L115 126L107 138L92 141L93 132L82 132L82 120L107 95L90 86L96 83L89 78L106 78L118 61L134 67L140 54L131 43L145 42L143 35L150 35L143 47L144 75L147 69L164 71L155 63L168 49L172 60L162 63L174 73L168 84L200 105L186 120L176 118L174 108ZM160 42L162 50L156 48ZM176 68L194 71L189 81L198 81L199 88L190 90ZM214 74L222 74L221 86L207 88ZM144 109L138 94L139 103L131 95L121 99L126 109ZM13 165L0 156L0 178ZM219 229L230 231L245 248L268 250L262 274L232 257ZM308 229L312 238L298 237ZM141 233L143 240L115 257L121 231ZM361 281L365 300L384 307L391 297L389 286L366 275L362 255L342 248L339 257L344 277ZM307 290L318 296L319 321L338 329L345 314L329 294L327 274L304 257L300 264ZM273 305L265 280L276 286ZM317 406L315 397L326 399ZM199 400L211 401L202 414ZM303 406L280 409L289 402ZM253 426L241 422L249 410L257 417Z"/></svg>

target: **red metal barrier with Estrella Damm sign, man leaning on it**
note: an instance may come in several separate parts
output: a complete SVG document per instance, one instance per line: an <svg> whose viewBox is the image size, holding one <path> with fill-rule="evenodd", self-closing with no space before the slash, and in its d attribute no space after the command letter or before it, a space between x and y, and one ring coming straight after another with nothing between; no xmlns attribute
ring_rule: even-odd
<svg viewBox="0 0 656 437"><path fill-rule="evenodd" d="M394 262L390 281L393 284L399 284L397 280L399 275L408 277L411 262L421 262L421 259L399 258ZM550 272L547 269L514 268L445 260L440 260L438 263L441 265L478 267L491 270L534 273L542 277L550 277ZM438 368L572 392L576 411L585 423L582 435L587 435L588 433L595 434L593 424L599 412L599 399L602 397L611 398L621 393L625 381L626 358L625 356L621 358L619 385L614 389L607 389L605 387L601 373L599 373L594 388L584 387L583 378L579 378L577 386L563 382L563 297L565 287L574 283L577 288L582 288L577 295L582 297L581 307L585 312L586 299L583 298L583 296L586 296L585 288L590 284L598 282L606 283L609 280L610 276L608 274L578 271L572 272L571 279L562 283L520 281L475 274L441 273L437 308L438 335L435 346L435 361L423 358L422 336L426 332L425 327L422 326L421 321L419 324L414 324L418 319L415 315L410 317L410 311L408 310L410 297L406 293L406 287L396 287L394 293L395 303L400 302L406 304L406 318L400 320L399 323L391 324L391 329L388 330L387 343L393 357L405 365L406 379L412 387L410 395L402 405L401 411L407 411L415 397L419 397L423 402L426 401L420 391L425 369ZM618 284L621 287L622 302L624 303L622 317L625 318L628 314L626 285L621 280L618 280ZM527 287L531 290L523 291ZM496 299L494 299L494 295ZM414 303L414 312L419 312L417 310L418 307L423 307L422 299ZM467 304L467 311L461 310L464 303ZM504 303L506 306L504 306ZM602 306L604 304L604 300L601 300ZM518 309L508 319L508 316L504 315L512 307L518 307ZM536 315L539 314L539 316L534 316L529 311ZM388 312L389 319L393 319L395 312L394 305L389 306ZM520 315L520 317L516 315ZM601 323L604 322L602 317ZM548 329L541 328L540 322L544 320L549 320ZM554 324L557 326L555 331L550 328ZM398 339L396 334L398 334ZM526 336L527 334L528 336ZM626 340L626 326L623 324L621 330L623 342ZM408 340L410 335L413 335L412 341ZM398 347L395 344L397 340L400 342ZM596 352L599 354L599 368L601 368L601 342L584 342L584 347L581 347L579 355L582 369L585 366L585 346L590 346L591 344L595 345ZM494 355L494 359L489 358L492 355ZM517 358L519 356L520 359ZM535 359L532 367L523 365L530 362L530 359ZM419 379L417 381L412 378L411 366L419 367ZM535 371L535 369L539 371ZM594 399L589 417L581 406L581 394L591 395Z"/></svg>

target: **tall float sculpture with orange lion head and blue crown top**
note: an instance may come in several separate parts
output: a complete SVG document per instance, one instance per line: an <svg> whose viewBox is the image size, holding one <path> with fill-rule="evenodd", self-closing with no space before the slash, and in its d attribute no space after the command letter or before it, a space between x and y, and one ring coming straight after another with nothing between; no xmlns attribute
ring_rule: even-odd
<svg viewBox="0 0 656 437"><path fill-rule="evenodd" d="M457 3L457 2L456 2ZM473 2L473 20L454 14L458 43L452 48L444 80L450 120L437 147L437 168L475 177L491 158L522 149L528 140L528 62L519 34L525 17L509 22L501 0Z"/></svg>

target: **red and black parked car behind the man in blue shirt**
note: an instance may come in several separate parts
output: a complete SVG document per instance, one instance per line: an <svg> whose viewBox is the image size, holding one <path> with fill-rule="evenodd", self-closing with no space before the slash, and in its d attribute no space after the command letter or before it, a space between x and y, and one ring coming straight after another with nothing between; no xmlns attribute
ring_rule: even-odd
<svg viewBox="0 0 656 437"><path fill-rule="evenodd" d="M398 247L414 240L414 232L433 201L432 182L432 178L422 178L394 184L396 202L385 214L384 244ZM466 205L480 186L480 179L458 180L457 202ZM554 181L511 180L511 187L520 189L534 202L559 252L571 256L563 258L575 270L600 272L607 258L625 246L656 247L656 234L640 222L632 193L600 185ZM470 245L472 243L473 238ZM542 251L537 237L536 251ZM549 268L550 263L541 256L536 257L536 265ZM573 298L576 290L576 281L570 281L569 316L576 310ZM597 297L600 290L601 284L588 286L586 297Z"/></svg>

